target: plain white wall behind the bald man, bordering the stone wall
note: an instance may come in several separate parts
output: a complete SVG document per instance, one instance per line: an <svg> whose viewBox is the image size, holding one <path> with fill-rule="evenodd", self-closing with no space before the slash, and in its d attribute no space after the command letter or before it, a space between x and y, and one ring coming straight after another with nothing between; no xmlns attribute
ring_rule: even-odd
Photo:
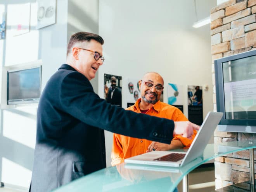
<svg viewBox="0 0 256 192"><path fill-rule="evenodd" d="M214 0L197 2L198 19L209 16L216 6ZM204 117L213 111L210 26L192 28L196 21L194 1L100 0L99 6L99 35L105 40L105 61L99 69L100 97L104 93L104 73L122 76L124 87L127 78L140 79L144 73L156 71L165 85L208 84L209 91L203 92ZM122 106L126 106L125 89L122 98ZM187 115L186 106L184 113ZM112 133L106 133L107 166L111 145Z"/></svg>

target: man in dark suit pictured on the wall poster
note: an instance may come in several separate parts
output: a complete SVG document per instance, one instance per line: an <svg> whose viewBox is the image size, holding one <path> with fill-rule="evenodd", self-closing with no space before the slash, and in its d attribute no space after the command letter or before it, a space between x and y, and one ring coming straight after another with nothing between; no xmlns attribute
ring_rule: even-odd
<svg viewBox="0 0 256 192"><path fill-rule="evenodd" d="M106 90L105 90L106 91ZM106 101L111 105L122 107L122 92L116 86L116 77L111 77L111 86L107 90Z"/></svg>

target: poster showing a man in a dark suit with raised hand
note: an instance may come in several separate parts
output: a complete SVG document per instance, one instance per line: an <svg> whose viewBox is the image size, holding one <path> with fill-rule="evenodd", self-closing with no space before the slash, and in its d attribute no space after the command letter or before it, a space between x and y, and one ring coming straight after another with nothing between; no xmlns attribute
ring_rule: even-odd
<svg viewBox="0 0 256 192"><path fill-rule="evenodd" d="M122 77L104 74L104 99L111 105L122 107Z"/></svg>

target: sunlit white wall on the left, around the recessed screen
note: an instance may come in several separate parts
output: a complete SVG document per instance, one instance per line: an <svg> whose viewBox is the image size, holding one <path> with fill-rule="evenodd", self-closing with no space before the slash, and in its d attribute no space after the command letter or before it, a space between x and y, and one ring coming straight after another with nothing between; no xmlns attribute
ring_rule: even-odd
<svg viewBox="0 0 256 192"><path fill-rule="evenodd" d="M35 0L0 1L0 9L7 12L6 39L0 40L3 72L6 68L41 60L42 89L50 76L66 61L67 0L57 0L56 24L36 30ZM11 7L17 3L31 3L30 31L19 36L10 33ZM1 68L2 68L1 67ZM2 70L1 70L2 71ZM6 72L5 72L6 73ZM0 181L29 187L36 138L37 105L6 106L6 74L3 74L0 127Z"/></svg>

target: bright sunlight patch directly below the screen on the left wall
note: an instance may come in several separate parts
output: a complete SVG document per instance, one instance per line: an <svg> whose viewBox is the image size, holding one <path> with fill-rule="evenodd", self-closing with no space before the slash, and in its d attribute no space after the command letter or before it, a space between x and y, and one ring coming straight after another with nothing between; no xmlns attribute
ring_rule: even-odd
<svg viewBox="0 0 256 192"><path fill-rule="evenodd" d="M30 110L31 116L27 112L22 114L21 111L17 114L3 110L3 136L35 149L36 116L33 115L35 108Z"/></svg>

